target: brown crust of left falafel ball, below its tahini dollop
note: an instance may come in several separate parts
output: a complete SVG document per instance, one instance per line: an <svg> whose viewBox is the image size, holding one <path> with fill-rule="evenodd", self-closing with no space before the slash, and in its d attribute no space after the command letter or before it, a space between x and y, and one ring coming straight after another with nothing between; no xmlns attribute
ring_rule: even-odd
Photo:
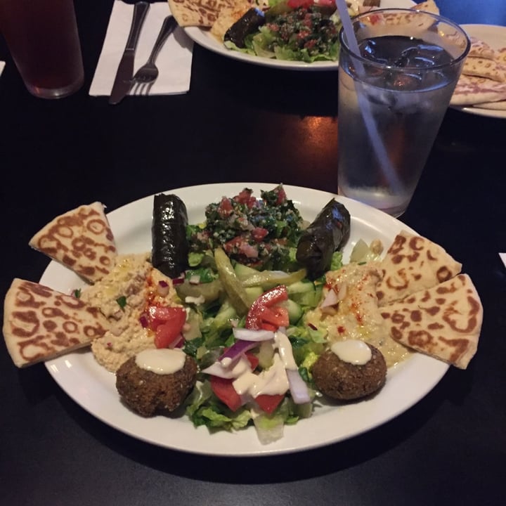
<svg viewBox="0 0 506 506"><path fill-rule="evenodd" d="M116 372L116 389L126 406L150 417L179 408L197 380L197 363L186 355L180 370L159 374L139 367L133 356Z"/></svg>

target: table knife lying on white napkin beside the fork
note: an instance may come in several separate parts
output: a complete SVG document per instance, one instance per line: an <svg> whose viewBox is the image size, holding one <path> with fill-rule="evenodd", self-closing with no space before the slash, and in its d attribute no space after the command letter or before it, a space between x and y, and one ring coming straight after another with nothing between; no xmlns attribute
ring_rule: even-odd
<svg viewBox="0 0 506 506"><path fill-rule="evenodd" d="M134 16L132 17L129 37L126 40L126 46L121 61L116 72L115 82L112 85L112 91L109 97L110 104L119 103L129 92L131 78L134 75L134 59L137 47L139 33L148 13L150 4L145 1L137 2L134 6Z"/></svg>

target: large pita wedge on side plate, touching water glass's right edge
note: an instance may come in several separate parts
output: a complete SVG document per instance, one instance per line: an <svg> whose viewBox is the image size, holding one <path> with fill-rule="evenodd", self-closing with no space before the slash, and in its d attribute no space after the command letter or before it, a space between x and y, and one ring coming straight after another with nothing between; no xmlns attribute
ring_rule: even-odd
<svg viewBox="0 0 506 506"><path fill-rule="evenodd" d="M499 100L506 100L506 83L462 74L455 86L450 105L473 105Z"/></svg>

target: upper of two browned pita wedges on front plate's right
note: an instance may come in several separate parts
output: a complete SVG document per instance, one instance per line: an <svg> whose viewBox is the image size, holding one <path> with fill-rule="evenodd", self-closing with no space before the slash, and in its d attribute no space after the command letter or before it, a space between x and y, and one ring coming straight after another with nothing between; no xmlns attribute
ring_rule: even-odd
<svg viewBox="0 0 506 506"><path fill-rule="evenodd" d="M421 235L401 231L380 262L378 305L385 306L419 290L434 287L460 273L462 264Z"/></svg>

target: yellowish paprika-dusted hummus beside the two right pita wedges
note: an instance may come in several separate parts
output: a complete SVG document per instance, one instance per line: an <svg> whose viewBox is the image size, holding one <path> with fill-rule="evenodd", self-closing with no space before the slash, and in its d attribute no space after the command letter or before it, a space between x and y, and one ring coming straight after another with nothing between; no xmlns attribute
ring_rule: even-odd
<svg viewBox="0 0 506 506"><path fill-rule="evenodd" d="M377 305L376 285L382 278L376 262L348 264L325 275L323 302L306 313L306 323L326 332L329 344L361 339L379 349L387 367L405 360L410 351L390 337ZM334 290L337 302L325 305ZM334 297L334 296L332 296Z"/></svg>

